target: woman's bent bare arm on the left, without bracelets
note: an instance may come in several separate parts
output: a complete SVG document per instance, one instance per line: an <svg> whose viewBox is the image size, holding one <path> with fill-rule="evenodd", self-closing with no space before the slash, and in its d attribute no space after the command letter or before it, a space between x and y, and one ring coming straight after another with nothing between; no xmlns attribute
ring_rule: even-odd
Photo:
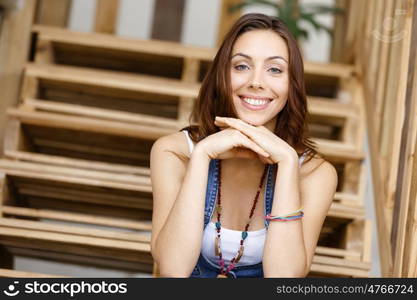
<svg viewBox="0 0 417 300"><path fill-rule="evenodd" d="M186 167L171 149L168 136L151 150L151 252L161 276L188 277L201 251L209 158L195 147Z"/></svg>

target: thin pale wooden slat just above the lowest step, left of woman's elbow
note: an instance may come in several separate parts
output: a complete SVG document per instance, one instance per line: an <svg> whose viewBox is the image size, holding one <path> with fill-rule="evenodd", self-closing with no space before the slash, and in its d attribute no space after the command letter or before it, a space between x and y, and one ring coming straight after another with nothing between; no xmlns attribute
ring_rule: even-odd
<svg viewBox="0 0 417 300"><path fill-rule="evenodd" d="M152 225L147 222L129 221L116 218L92 216L88 214L52 211L49 209L33 209L23 207L4 206L3 212L7 215L44 218L59 221L77 222L83 224L95 224L102 226L120 227L134 230L152 230Z"/></svg>

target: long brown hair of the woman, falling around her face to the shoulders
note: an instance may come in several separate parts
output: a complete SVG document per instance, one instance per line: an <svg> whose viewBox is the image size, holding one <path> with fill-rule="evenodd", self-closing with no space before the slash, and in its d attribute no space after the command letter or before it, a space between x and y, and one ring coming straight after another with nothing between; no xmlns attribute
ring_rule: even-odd
<svg viewBox="0 0 417 300"><path fill-rule="evenodd" d="M288 101L279 112L274 133L300 155L308 152L308 160L317 154L316 145L308 133L307 99L304 84L303 58L297 42L285 24L276 17L246 14L240 17L226 34L204 80L190 116L187 129L194 142L218 132L216 116L237 118L233 106L230 80L230 59L240 35L251 30L272 30L284 39L289 53Z"/></svg>

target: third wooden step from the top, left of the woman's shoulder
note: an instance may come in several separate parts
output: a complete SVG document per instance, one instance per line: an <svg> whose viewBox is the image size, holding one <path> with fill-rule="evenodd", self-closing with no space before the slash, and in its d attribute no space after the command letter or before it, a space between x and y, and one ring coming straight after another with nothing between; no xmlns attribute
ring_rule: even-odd
<svg viewBox="0 0 417 300"><path fill-rule="evenodd" d="M108 168L108 164L117 164L119 168L120 165L149 168L153 142L178 131L17 109L9 109L8 114L12 119L6 131L5 151L89 160L93 165L94 162L107 164L107 167L94 165L100 169ZM86 163L81 165L85 167Z"/></svg>

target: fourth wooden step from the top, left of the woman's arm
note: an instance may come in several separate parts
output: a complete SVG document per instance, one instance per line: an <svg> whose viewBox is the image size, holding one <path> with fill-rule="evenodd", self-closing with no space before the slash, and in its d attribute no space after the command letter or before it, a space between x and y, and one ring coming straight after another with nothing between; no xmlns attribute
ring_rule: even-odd
<svg viewBox="0 0 417 300"><path fill-rule="evenodd" d="M5 159L0 160L0 175L1 187L4 189L0 212L9 216L28 220L73 220L101 226L106 223L117 225L125 219L126 224L132 224L129 226L142 226L130 229L150 230L149 225L146 225L152 216L149 176L87 171Z"/></svg>

